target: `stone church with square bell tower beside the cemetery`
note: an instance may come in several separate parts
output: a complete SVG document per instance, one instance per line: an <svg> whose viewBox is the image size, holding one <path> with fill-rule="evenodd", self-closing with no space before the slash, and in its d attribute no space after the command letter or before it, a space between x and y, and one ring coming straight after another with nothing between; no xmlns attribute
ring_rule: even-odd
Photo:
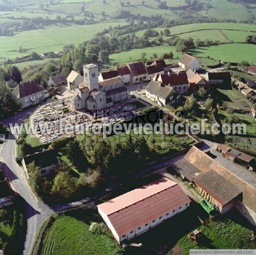
<svg viewBox="0 0 256 255"><path fill-rule="evenodd" d="M95 64L83 66L84 80L75 90L73 108L75 110L102 110L117 101L127 99L127 88L122 76L99 82L99 69Z"/></svg>

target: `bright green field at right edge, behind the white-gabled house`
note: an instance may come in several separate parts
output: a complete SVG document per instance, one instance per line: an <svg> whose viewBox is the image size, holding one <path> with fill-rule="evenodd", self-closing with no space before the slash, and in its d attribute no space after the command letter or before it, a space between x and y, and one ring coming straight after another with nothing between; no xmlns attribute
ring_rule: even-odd
<svg viewBox="0 0 256 255"><path fill-rule="evenodd" d="M256 46L246 43L227 43L214 46L205 46L189 50L193 55L206 57L210 56L214 59L221 59L225 62L248 61L256 62Z"/></svg>

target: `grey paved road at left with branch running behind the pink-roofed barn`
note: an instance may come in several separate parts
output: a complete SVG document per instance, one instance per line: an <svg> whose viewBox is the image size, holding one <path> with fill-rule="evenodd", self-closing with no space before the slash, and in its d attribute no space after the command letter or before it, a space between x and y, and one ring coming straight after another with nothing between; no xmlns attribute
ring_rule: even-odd
<svg viewBox="0 0 256 255"><path fill-rule="evenodd" d="M24 119L27 119L29 117L33 110L35 110L35 108L26 110L23 113L19 113L16 116L6 119L3 121L3 124L7 126L9 126L9 123L12 123L13 125L15 123L20 124L23 122ZM75 201L73 203L65 203L61 205L51 205L50 207L42 203L41 201L38 201L38 199L32 193L26 182L25 174L20 172L20 169L17 167L17 164L15 162L16 138L17 137L13 136L12 134L9 134L8 140L3 144L2 148L0 148L0 161L3 162L3 171L6 174L9 182L11 183L12 188L17 193L19 193L20 196L23 197L23 199L25 200L27 234L23 254L29 255L32 251L32 246L35 241L37 231L47 217L55 212L60 212L64 209L70 209L88 202L92 202L99 197L105 196L106 194L108 194L108 192L103 191L101 193L94 194L91 197L87 197L83 200ZM206 147L203 147L201 149L204 150L206 149ZM115 183L109 188L118 188L119 185L121 185L122 183L127 183L131 180L134 180L135 178L143 177L146 174L162 169L181 159L183 156L184 154L176 156L172 159L166 159L161 163L150 165L148 168L140 171L137 174L131 175L125 180Z"/></svg>

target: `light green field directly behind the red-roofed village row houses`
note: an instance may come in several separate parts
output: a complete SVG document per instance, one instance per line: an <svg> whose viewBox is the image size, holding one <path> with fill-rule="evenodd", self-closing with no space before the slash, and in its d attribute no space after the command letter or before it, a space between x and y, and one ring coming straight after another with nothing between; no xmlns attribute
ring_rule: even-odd
<svg viewBox="0 0 256 255"><path fill-rule="evenodd" d="M172 51L174 58L180 58L181 53L175 50L175 46L156 46L156 47L147 47L143 49L132 49L129 51L113 53L110 55L110 61L116 61L118 63L134 62L140 59L142 52L146 52L146 58L151 57L154 53L157 53L158 56L163 53Z"/></svg>

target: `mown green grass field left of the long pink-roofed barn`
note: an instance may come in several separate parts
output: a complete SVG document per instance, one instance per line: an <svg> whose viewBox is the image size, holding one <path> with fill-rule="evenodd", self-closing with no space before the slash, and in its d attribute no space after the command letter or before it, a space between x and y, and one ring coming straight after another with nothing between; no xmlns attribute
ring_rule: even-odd
<svg viewBox="0 0 256 255"><path fill-rule="evenodd" d="M90 232L92 222L101 222L97 212L85 209L55 216L43 239L41 255L121 255L122 246L111 233L96 235Z"/></svg>

